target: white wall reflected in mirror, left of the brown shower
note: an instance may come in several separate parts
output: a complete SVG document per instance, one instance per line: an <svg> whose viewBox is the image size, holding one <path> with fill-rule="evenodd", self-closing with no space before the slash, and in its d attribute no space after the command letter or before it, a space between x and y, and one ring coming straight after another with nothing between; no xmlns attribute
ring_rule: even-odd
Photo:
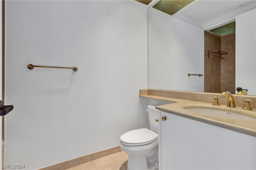
<svg viewBox="0 0 256 170"><path fill-rule="evenodd" d="M148 88L204 91L204 31L148 10Z"/></svg>

